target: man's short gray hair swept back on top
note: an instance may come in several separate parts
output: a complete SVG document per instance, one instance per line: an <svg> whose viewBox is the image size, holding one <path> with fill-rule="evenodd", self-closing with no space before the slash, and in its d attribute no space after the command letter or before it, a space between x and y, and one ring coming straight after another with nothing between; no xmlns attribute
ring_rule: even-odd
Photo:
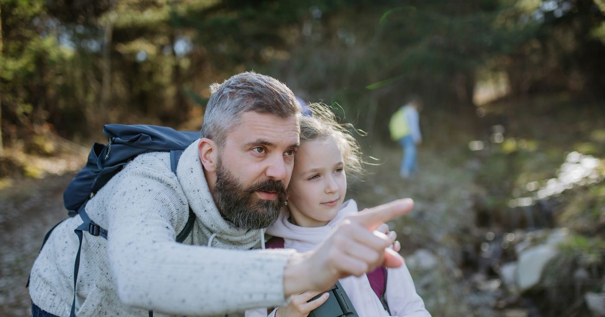
<svg viewBox="0 0 605 317"><path fill-rule="evenodd" d="M241 72L218 85L210 85L200 137L224 145L227 131L238 124L241 114L254 111L280 118L299 117L301 106L284 83L267 75Z"/></svg>

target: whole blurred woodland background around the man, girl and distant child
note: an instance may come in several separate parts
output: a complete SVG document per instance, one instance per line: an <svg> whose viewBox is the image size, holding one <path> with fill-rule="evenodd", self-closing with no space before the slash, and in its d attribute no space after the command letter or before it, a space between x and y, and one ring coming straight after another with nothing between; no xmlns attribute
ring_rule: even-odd
<svg viewBox="0 0 605 317"><path fill-rule="evenodd" d="M605 316L605 0L0 0L0 315L105 123L198 130L253 70L367 132L360 207L433 316ZM424 101L419 173L388 135Z"/></svg>

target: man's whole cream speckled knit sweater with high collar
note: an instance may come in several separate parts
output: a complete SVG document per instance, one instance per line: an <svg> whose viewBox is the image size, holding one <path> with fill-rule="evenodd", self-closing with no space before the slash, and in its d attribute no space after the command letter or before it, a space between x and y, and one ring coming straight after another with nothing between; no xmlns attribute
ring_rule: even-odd
<svg viewBox="0 0 605 317"><path fill-rule="evenodd" d="M212 315L285 303L283 273L291 250L243 251L258 230L226 222L204 178L194 142L177 176L168 153L138 156L88 202L108 240L84 233L77 280L77 316ZM183 244L175 236L197 219ZM41 309L68 316L79 216L60 223L31 270L30 295ZM211 234L212 248L205 245Z"/></svg>

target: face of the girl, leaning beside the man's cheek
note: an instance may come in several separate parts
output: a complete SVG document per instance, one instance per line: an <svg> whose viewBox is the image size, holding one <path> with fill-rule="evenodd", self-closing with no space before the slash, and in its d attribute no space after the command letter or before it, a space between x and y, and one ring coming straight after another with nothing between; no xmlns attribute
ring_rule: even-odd
<svg viewBox="0 0 605 317"><path fill-rule="evenodd" d="M288 207L298 226L324 226L347 193L342 153L333 138L301 143L288 187Z"/></svg>

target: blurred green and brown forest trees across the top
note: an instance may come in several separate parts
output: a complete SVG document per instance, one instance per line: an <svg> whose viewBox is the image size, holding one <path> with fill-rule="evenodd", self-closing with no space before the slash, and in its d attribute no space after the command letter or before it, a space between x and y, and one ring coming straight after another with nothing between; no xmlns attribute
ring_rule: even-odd
<svg viewBox="0 0 605 317"><path fill-rule="evenodd" d="M540 0L4 0L2 126L178 126L209 83L247 69L342 104L377 138L410 94L473 113L479 71L505 74L512 94L600 94L603 2L555 2L559 15Z"/></svg>

